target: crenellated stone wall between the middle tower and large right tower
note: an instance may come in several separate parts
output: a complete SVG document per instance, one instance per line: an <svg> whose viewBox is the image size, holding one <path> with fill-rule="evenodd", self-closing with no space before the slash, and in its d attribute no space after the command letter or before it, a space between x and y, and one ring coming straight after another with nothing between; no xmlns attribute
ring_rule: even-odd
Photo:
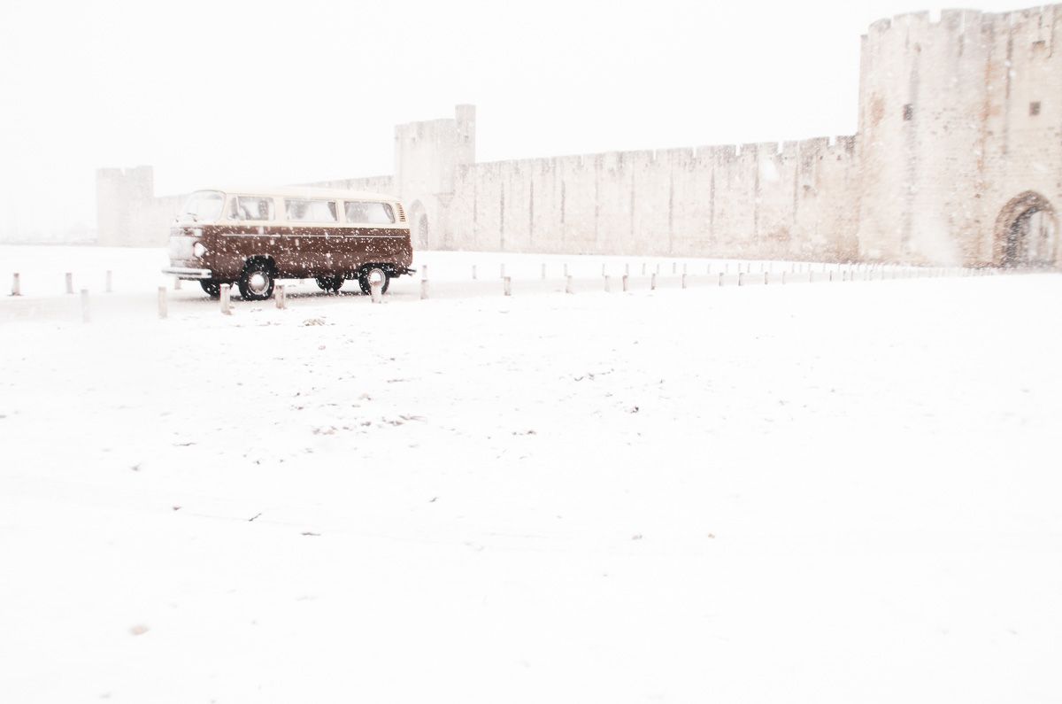
<svg viewBox="0 0 1062 704"><path fill-rule="evenodd" d="M457 249L854 257L855 137L458 168Z"/></svg>

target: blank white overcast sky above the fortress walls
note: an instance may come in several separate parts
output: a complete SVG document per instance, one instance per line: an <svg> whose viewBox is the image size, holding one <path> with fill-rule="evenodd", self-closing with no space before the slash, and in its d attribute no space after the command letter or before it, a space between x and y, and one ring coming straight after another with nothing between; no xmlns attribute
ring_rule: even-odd
<svg viewBox="0 0 1062 704"><path fill-rule="evenodd" d="M920 10L0 0L0 235L95 227L101 166L158 195L391 173L395 123L463 102L478 161L853 134L859 35Z"/></svg>

